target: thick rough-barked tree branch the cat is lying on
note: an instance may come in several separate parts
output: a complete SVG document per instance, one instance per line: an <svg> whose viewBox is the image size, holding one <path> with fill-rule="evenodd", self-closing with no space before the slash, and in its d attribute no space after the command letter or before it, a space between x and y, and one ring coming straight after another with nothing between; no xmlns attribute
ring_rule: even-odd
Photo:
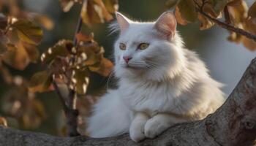
<svg viewBox="0 0 256 146"><path fill-rule="evenodd" d="M219 110L204 120L170 127L156 139L135 143L129 139L129 134L104 139L53 137L0 126L0 145L256 145L256 58Z"/></svg>

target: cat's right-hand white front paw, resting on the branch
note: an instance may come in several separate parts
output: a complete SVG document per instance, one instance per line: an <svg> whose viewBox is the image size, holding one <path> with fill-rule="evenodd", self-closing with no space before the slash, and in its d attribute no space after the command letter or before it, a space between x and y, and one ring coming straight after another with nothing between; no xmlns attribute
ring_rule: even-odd
<svg viewBox="0 0 256 146"><path fill-rule="evenodd" d="M167 126L165 126L158 120L152 118L146 122L144 134L147 138L153 139L154 137L157 137L159 134L162 134L162 132L165 131L166 127Z"/></svg>

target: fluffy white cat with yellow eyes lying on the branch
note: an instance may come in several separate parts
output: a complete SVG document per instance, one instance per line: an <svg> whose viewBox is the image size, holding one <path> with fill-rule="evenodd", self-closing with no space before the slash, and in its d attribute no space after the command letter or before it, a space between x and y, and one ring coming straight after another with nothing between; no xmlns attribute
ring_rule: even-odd
<svg viewBox="0 0 256 146"><path fill-rule="evenodd" d="M118 88L94 105L91 137L129 132L132 140L154 138L175 123L200 120L225 101L222 84L198 55L183 46L172 12L141 23L116 13L115 74ZM117 27L118 26L118 27Z"/></svg>

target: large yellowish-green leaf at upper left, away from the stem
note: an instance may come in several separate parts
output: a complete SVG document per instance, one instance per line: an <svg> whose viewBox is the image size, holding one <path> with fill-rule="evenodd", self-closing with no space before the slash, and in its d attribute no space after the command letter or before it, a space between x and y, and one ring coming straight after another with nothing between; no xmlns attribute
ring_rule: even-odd
<svg viewBox="0 0 256 146"><path fill-rule="evenodd" d="M42 40L42 29L28 20L15 20L11 24L12 31L16 31L21 41L38 45Z"/></svg>

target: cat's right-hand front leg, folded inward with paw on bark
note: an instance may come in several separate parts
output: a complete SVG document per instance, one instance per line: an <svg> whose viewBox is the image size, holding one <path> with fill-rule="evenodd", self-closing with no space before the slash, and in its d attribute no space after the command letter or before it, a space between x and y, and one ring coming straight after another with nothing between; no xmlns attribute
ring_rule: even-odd
<svg viewBox="0 0 256 146"><path fill-rule="evenodd" d="M150 118L144 127L144 134L147 138L157 137L159 134L162 134L170 126L173 126L175 123L182 123L186 120L183 118L177 118L173 115L159 113Z"/></svg>

